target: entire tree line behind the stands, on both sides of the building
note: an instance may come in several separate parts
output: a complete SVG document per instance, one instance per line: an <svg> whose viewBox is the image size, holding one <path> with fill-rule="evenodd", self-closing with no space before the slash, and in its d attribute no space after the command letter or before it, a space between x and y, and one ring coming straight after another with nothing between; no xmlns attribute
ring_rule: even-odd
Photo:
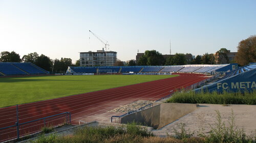
<svg viewBox="0 0 256 143"><path fill-rule="evenodd" d="M191 53L176 53L174 56L169 56L164 59L163 55L156 50L146 50L144 55L141 56L136 63L135 60L130 60L127 66L163 66L163 65L190 65L190 64L227 64L238 63L240 66L247 65L249 63L256 62L256 36L250 36L249 38L242 40L238 44L238 53L234 58L234 61L229 61L226 48L221 48L215 54L205 53L202 56L197 55L193 59ZM61 58L52 60L48 56L37 52L29 53L20 58L20 55L15 51L2 51L0 56L0 62L31 62L47 71L53 73L65 72L68 66L80 66L80 61L77 60L75 64L72 64L70 58ZM123 66L123 62L117 60L114 66Z"/></svg>

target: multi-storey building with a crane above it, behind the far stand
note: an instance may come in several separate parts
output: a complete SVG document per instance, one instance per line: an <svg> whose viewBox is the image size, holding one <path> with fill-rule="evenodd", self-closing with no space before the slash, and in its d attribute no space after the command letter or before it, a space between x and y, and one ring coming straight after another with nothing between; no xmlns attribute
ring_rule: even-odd
<svg viewBox="0 0 256 143"><path fill-rule="evenodd" d="M117 52L97 50L97 52L80 52L80 66L113 66L116 62Z"/></svg>

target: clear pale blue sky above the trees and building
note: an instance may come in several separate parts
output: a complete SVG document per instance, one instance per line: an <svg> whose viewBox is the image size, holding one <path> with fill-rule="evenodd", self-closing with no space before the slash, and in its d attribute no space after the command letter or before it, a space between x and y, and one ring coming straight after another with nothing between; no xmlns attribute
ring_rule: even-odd
<svg viewBox="0 0 256 143"><path fill-rule="evenodd" d="M256 1L12 1L0 0L0 51L71 58L108 40L122 61L137 50L202 55L237 51L256 34ZM91 37L89 40L89 36Z"/></svg>

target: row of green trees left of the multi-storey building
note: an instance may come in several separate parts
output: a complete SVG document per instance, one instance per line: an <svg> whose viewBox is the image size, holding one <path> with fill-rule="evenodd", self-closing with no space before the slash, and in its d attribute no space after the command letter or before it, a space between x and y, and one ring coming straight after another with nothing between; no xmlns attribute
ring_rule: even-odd
<svg viewBox="0 0 256 143"><path fill-rule="evenodd" d="M29 53L20 58L20 55L15 51L2 51L0 62L31 62L52 73L66 72L69 66L80 66L79 60L73 64L70 58L52 60L44 54L38 55L37 52Z"/></svg>

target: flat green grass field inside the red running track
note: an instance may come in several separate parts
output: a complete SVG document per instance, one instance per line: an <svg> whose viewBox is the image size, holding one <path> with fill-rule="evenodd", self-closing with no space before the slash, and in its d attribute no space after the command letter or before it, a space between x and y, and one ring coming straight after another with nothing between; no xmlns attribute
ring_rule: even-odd
<svg viewBox="0 0 256 143"><path fill-rule="evenodd" d="M0 107L99 91L176 75L66 75L0 78Z"/></svg>

